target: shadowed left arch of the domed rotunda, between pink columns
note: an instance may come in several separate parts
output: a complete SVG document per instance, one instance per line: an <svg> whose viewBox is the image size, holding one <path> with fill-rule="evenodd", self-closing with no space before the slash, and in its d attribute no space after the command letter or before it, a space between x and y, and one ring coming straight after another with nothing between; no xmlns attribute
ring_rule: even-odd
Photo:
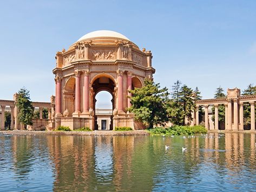
<svg viewBox="0 0 256 192"><path fill-rule="evenodd" d="M63 109L68 109L69 117L72 116L75 111L75 87L76 80L75 77L71 76L65 81L65 85L63 88Z"/></svg>

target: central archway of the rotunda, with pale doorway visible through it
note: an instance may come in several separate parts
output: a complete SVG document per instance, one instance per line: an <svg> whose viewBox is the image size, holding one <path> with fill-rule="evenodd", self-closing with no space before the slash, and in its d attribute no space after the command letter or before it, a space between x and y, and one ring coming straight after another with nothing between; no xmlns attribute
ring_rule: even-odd
<svg viewBox="0 0 256 192"><path fill-rule="evenodd" d="M94 129L113 130L113 109L115 108L115 83L106 76L101 76L92 83ZM103 96L101 94L103 93ZM107 94L107 95L106 95ZM105 95L105 97L104 97ZM99 97L98 97L99 96ZM107 97L106 97L107 96ZM97 98L97 99L96 99ZM110 100L110 101L107 101ZM97 109L98 103L108 103L103 109ZM108 108L108 109L107 109Z"/></svg>

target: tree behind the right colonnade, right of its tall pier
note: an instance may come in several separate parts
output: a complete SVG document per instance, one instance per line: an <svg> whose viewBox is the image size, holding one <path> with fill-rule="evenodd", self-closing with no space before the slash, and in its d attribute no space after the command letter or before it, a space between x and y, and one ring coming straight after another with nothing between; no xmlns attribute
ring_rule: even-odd
<svg viewBox="0 0 256 192"><path fill-rule="evenodd" d="M249 84L248 87L242 91L242 95L256 95L256 86ZM244 125L248 127L251 124L251 104L244 103Z"/></svg>

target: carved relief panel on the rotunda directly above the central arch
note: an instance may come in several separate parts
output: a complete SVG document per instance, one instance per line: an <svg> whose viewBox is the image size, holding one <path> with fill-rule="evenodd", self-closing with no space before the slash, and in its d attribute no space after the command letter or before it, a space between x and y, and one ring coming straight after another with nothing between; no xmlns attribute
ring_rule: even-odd
<svg viewBox="0 0 256 192"><path fill-rule="evenodd" d="M114 60L116 59L116 52L114 49L111 49L111 50L94 49L92 51L91 58L93 60Z"/></svg>

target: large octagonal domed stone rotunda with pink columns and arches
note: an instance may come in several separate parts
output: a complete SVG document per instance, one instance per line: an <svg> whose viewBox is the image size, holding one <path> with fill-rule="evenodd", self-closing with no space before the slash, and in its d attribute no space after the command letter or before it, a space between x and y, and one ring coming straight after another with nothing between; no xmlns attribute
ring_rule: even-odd
<svg viewBox="0 0 256 192"><path fill-rule="evenodd" d="M136 129L127 111L128 90L152 78L152 53L114 31L94 31L82 36L66 51L56 54L55 127L97 127L95 96L108 91L112 97L111 127Z"/></svg>

